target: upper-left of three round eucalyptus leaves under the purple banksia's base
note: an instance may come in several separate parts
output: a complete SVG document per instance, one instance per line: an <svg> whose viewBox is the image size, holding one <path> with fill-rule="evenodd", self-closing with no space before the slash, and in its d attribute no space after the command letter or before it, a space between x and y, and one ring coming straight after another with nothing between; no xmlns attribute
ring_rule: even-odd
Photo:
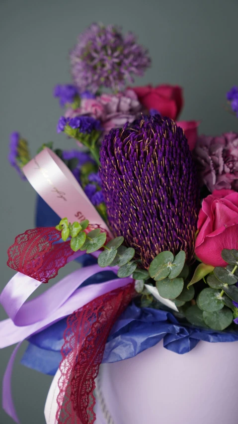
<svg viewBox="0 0 238 424"><path fill-rule="evenodd" d="M153 259L150 268L149 268L149 274L154 280L159 281L163 280L168 276L170 273L170 266L173 262L173 254L169 252L168 250L159 253Z"/></svg>

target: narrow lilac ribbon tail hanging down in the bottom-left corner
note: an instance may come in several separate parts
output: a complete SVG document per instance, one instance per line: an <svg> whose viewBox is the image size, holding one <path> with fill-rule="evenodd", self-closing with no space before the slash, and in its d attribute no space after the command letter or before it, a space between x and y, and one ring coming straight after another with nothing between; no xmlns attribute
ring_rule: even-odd
<svg viewBox="0 0 238 424"><path fill-rule="evenodd" d="M5 411L5 413L8 414L12 418L12 420L14 420L15 423L17 424L19 424L20 422L17 417L15 407L13 404L13 399L12 399L11 375L12 375L12 369L13 369L15 357L21 343L22 342L18 343L16 347L14 348L10 356L10 359L8 361L6 370L4 372L3 381L2 381L2 408Z"/></svg>

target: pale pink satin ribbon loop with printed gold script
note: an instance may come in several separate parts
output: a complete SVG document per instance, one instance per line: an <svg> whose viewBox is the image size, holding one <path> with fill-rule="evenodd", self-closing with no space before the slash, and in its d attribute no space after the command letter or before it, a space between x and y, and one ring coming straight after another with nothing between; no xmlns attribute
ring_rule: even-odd
<svg viewBox="0 0 238 424"><path fill-rule="evenodd" d="M61 218L88 219L111 232L65 163L47 147L22 168L36 192Z"/></svg>

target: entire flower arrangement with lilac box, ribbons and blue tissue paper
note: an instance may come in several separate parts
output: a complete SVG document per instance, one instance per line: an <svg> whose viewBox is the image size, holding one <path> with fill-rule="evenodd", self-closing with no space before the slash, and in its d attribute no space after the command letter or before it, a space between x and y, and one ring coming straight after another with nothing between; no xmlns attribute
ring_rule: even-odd
<svg viewBox="0 0 238 424"><path fill-rule="evenodd" d="M118 27L92 24L70 60L74 84L54 95L77 149L46 142L31 159L10 139L39 198L37 227L8 249L0 339L18 344L3 408L18 422L10 376L27 339L21 362L54 375L47 424L236 424L238 135L177 121L180 87L126 88L151 60ZM233 88L235 113L237 99ZM26 302L72 260L77 271Z"/></svg>

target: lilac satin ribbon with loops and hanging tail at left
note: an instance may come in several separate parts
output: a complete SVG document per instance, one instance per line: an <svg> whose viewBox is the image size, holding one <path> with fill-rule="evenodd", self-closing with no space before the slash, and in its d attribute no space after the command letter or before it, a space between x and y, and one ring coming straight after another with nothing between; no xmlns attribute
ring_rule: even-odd
<svg viewBox="0 0 238 424"><path fill-rule="evenodd" d="M103 270L112 271L116 268L107 267ZM99 265L91 265L74 271L27 303L25 303L27 298L41 283L20 273L14 275L0 296L0 303L10 317L0 322L0 348L22 342L29 336L72 314L93 299L133 281L131 278L119 278L79 288L87 278L100 271L102 268ZM3 409L16 423L19 423L19 420L12 401L11 373L19 345L16 346L9 359L2 387Z"/></svg>

